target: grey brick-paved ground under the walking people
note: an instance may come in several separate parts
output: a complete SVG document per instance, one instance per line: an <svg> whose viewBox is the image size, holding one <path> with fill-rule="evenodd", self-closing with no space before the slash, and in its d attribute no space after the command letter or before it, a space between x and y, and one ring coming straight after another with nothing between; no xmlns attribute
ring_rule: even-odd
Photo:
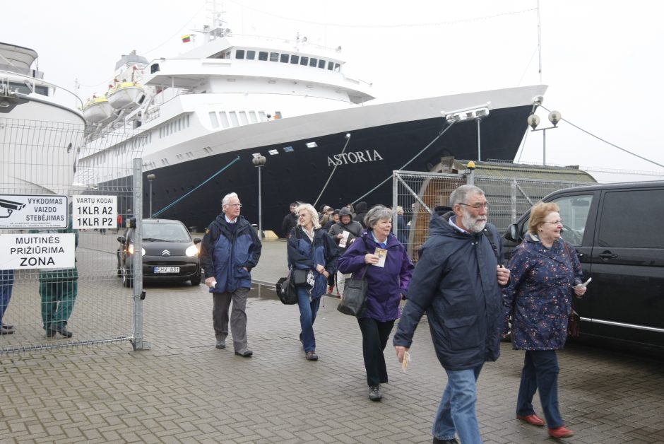
<svg viewBox="0 0 664 444"><path fill-rule="evenodd" d="M266 242L254 277L273 283L284 264L285 243ZM268 288L253 291L247 305L253 358L215 349L203 286L146 291L150 350L111 343L0 356L1 443L431 442L445 376L426 317L408 373L386 350L391 381L373 403L360 330L334 298L325 298L314 327L320 359L309 362L297 339L297 307ZM568 443L664 442L663 361L581 344L559 359L562 414L576 432ZM485 443L551 441L514 419L522 361L522 352L502 344L502 357L482 371Z"/></svg>

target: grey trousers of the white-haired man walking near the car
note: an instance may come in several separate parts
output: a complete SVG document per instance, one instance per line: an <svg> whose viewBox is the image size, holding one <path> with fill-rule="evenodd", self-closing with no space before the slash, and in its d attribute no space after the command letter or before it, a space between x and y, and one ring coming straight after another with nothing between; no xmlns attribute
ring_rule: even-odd
<svg viewBox="0 0 664 444"><path fill-rule="evenodd" d="M233 335L233 348L236 351L247 349L247 293L249 288L237 288L233 293L212 293L212 322L218 341L228 336L228 308L233 301L230 313L230 332Z"/></svg>

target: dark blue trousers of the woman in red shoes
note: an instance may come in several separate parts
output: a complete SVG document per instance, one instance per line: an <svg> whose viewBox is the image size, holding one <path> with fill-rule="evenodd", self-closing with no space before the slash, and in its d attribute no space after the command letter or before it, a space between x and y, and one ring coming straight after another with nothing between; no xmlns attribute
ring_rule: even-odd
<svg viewBox="0 0 664 444"><path fill-rule="evenodd" d="M540 402L548 428L564 425L558 410L558 357L555 350L526 350L521 370L521 385L518 386L516 414L535 414L533 396L540 392Z"/></svg>

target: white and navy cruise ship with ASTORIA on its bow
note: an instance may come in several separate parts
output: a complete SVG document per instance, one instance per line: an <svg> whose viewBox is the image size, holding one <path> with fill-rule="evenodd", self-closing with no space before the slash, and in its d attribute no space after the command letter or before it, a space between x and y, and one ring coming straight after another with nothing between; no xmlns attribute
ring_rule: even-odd
<svg viewBox="0 0 664 444"><path fill-rule="evenodd" d="M281 235L292 201L390 204L393 170L429 171L443 156L512 160L546 90L372 105L372 86L345 75L340 47L236 35L219 16L182 40L191 49L177 57L123 55L106 93L84 105L89 148L76 182L117 189L132 175L127 151L140 149L143 215L194 230L229 192L258 223L260 191L263 229Z"/></svg>

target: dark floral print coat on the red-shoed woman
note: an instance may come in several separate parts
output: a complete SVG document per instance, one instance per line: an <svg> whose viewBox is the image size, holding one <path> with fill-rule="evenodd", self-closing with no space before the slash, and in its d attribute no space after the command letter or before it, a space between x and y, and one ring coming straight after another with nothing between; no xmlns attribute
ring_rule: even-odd
<svg viewBox="0 0 664 444"><path fill-rule="evenodd" d="M511 317L515 350L562 349L572 310L572 288L583 281L581 262L573 245L558 238L545 247L528 234L509 261L510 284L503 291L504 332Z"/></svg>

